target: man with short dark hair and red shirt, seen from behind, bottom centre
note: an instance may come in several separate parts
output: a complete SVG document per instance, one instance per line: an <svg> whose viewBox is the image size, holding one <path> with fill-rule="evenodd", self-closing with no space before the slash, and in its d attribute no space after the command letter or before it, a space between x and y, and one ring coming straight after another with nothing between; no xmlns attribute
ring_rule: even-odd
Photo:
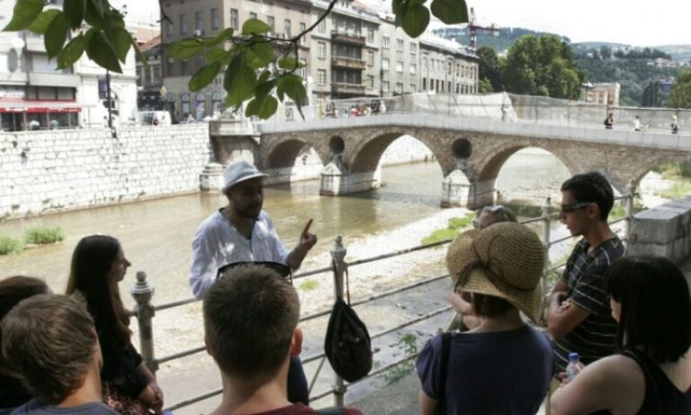
<svg viewBox="0 0 691 415"><path fill-rule="evenodd" d="M203 314L206 349L223 379L222 401L211 415L317 413L286 393L291 357L302 347L300 302L291 284L265 266L238 266L211 286Z"/></svg>

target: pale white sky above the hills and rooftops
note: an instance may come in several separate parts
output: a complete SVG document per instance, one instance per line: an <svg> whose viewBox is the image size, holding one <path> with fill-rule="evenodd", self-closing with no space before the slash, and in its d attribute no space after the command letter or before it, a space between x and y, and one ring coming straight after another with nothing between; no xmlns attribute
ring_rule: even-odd
<svg viewBox="0 0 691 415"><path fill-rule="evenodd" d="M176 0L175 0L176 1ZM202 0L203 1L203 0ZM265 0L269 1L269 0ZM361 0L388 9L388 0ZM691 0L466 0L476 23L522 27L567 36L573 42L606 41L634 46L691 44ZM431 0L429 0L431 2ZM133 22L155 23L157 0L112 0L125 4ZM435 23L434 26L442 23Z"/></svg>

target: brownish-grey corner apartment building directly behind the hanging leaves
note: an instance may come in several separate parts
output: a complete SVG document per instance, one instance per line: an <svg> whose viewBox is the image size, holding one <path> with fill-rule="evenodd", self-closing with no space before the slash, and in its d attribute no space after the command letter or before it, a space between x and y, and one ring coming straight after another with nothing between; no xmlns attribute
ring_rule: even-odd
<svg viewBox="0 0 691 415"><path fill-rule="evenodd" d="M276 37L290 39L307 29L310 9L310 2L305 0L164 0L162 13L170 21L161 23L163 86L166 88L166 108L173 113L174 121L187 120L190 115L202 120L207 115L220 113L225 109L226 93L222 73L201 91L189 91L187 84L191 77L206 62L202 56L189 60L175 59L168 55L168 45L193 36L213 36L228 27L239 32L242 24L251 18L271 25L274 28L272 34ZM299 59L305 63L309 59L306 43L303 42L299 50ZM301 71L301 75L306 74Z"/></svg>

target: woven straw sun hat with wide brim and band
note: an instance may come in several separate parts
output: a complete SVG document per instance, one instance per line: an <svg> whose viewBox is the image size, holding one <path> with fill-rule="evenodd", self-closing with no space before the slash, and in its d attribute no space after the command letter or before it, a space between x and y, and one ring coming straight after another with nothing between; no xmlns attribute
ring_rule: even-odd
<svg viewBox="0 0 691 415"><path fill-rule="evenodd" d="M513 222L460 234L446 252L446 266L463 292L502 298L538 319L544 250L533 230Z"/></svg>

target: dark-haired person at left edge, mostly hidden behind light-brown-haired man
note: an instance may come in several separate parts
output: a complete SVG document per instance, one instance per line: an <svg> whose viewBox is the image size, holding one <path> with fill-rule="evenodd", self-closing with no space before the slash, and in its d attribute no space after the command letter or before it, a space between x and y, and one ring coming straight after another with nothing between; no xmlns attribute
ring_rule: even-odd
<svg viewBox="0 0 691 415"><path fill-rule="evenodd" d="M39 278L23 275L4 278L0 281L0 320L22 300L45 293L50 293L50 289ZM2 336L0 330L0 343ZM14 371L12 362L5 361L0 354L0 413L4 413L3 409L21 406L31 398L31 392L22 384L22 376Z"/></svg>

